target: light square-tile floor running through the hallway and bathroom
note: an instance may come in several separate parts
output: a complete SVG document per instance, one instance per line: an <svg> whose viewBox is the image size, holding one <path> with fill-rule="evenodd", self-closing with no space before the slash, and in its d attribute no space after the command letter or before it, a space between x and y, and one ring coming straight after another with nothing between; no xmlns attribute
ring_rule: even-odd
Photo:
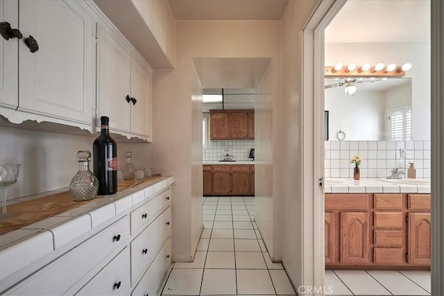
<svg viewBox="0 0 444 296"><path fill-rule="evenodd" d="M253 197L203 198L203 211L194 261L174 263L162 295L296 295L266 252ZM326 295L430 295L430 286L429 271L325 270Z"/></svg>

